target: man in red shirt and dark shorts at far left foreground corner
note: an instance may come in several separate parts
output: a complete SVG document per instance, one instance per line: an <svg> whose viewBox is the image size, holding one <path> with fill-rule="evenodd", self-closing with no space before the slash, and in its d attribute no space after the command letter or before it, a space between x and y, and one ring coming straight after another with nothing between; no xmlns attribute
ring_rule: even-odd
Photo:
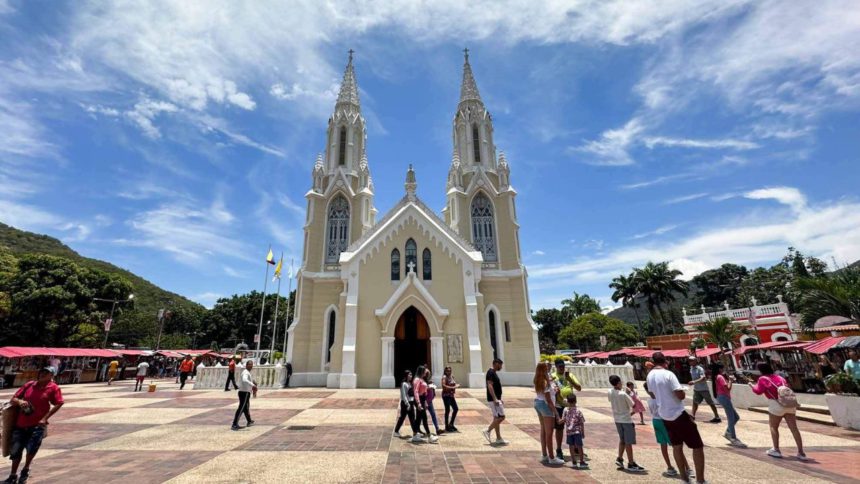
<svg viewBox="0 0 860 484"><path fill-rule="evenodd" d="M63 394L54 383L56 374L57 369L52 366L42 368L35 381L19 388L12 397L12 405L18 407L18 419L12 431L12 471L9 478L3 481L5 484L23 484L30 478L30 463L42 445L48 419L63 406ZM27 449L27 460L18 477L24 449Z"/></svg>

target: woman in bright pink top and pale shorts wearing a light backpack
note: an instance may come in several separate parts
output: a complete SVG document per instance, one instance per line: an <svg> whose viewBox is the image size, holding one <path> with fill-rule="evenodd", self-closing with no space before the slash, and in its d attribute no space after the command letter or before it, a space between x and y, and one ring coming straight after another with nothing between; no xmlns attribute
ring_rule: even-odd
<svg viewBox="0 0 860 484"><path fill-rule="evenodd" d="M759 363L758 371L761 376L755 383L749 385L753 393L764 395L767 398L770 438L773 440L773 448L767 451L767 455L777 459L782 458L782 452L779 450L779 424L784 418L788 429L791 430L791 435L794 436L794 442L797 444L797 459L806 462L809 458L803 452L803 439L797 428L797 417L795 416L798 407L797 397L788 386L785 378L774 374L770 364Z"/></svg>

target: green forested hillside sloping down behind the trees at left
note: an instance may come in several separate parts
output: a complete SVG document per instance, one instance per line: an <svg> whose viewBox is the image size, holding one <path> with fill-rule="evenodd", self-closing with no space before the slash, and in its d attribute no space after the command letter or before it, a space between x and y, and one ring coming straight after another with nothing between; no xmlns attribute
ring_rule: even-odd
<svg viewBox="0 0 860 484"><path fill-rule="evenodd" d="M184 316L191 314L199 317L206 311L202 305L179 294L166 291L133 272L109 262L83 257L69 246L47 235L19 230L0 223L0 251L11 252L15 256L45 254L63 257L87 269L102 271L129 281L134 288L134 308L124 308L125 310L115 317L118 324L111 330L111 341L151 344L151 340L158 331L157 313L160 308L169 308L179 319L184 319ZM165 331L168 329L165 328Z"/></svg>

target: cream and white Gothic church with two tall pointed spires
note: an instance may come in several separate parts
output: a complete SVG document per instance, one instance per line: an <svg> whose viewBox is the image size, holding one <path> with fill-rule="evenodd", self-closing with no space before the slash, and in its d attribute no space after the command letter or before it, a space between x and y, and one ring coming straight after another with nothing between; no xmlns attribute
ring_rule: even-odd
<svg viewBox="0 0 860 484"><path fill-rule="evenodd" d="M377 219L350 53L306 194L287 348L296 384L393 388L427 365L437 382L451 366L463 386L482 388L494 358L505 362L503 382L531 383L538 337L516 191L468 52L452 130L441 215L418 198L409 166L403 198Z"/></svg>

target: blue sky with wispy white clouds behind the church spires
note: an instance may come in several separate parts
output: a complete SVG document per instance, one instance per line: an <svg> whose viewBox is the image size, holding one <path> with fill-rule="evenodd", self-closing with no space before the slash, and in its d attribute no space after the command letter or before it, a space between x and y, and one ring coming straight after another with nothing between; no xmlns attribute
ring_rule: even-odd
<svg viewBox="0 0 860 484"><path fill-rule="evenodd" d="M300 258L346 51L380 216L444 203L464 46L533 309L647 260L860 259L856 2L0 0L0 221L206 305Z"/></svg>

